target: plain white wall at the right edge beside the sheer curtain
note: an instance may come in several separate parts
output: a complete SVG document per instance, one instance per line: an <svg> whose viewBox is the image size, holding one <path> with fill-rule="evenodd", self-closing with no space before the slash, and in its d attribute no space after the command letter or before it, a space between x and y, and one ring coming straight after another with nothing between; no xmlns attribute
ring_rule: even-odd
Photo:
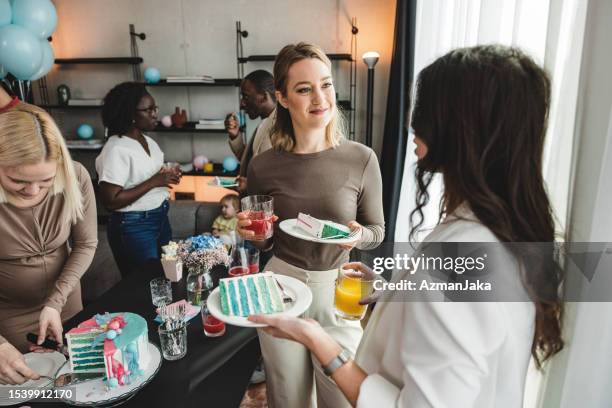
<svg viewBox="0 0 612 408"><path fill-rule="evenodd" d="M577 166L569 237L574 242L612 242L612 2L590 0L577 122ZM608 244L609 245L609 244ZM612 275L598 274L592 287L612 291ZM542 406L612 406L612 303L570 303L566 348L548 367Z"/></svg>

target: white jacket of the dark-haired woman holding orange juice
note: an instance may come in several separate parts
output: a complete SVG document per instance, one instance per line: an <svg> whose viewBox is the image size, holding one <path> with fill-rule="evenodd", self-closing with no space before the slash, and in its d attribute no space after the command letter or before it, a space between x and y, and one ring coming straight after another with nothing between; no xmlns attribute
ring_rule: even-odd
<svg viewBox="0 0 612 408"><path fill-rule="evenodd" d="M464 209L425 242L498 242ZM517 265L508 254L508 265ZM504 268L504 271L519 269ZM406 279L399 272L393 281ZM521 407L534 335L531 302L378 302L355 358L357 407ZM394 301L395 300L395 301Z"/></svg>

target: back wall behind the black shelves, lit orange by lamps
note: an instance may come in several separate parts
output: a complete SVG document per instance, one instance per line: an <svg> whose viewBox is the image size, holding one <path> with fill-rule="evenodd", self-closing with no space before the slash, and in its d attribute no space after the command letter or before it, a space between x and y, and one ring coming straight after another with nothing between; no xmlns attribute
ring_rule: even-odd
<svg viewBox="0 0 612 408"><path fill-rule="evenodd" d="M57 58L129 56L128 25L145 32L139 41L142 68L153 66L166 75L209 74L236 77L235 21L249 32L245 55L275 54L288 43L308 41L326 52L350 52L350 21L357 17L358 55L377 50L374 146L382 146L388 71L393 45L395 0L54 0L59 23L53 36ZM340 99L348 99L348 63L335 62L334 75ZM366 73L358 62L357 139L363 140ZM272 63L248 63L254 69L272 70ZM67 84L73 97L101 98L115 84L131 80L131 68L113 65L58 66L48 76L51 101L55 89ZM236 111L237 88L151 87L161 108L160 116L175 106L187 109L190 119L223 117ZM102 126L95 112L71 111L58 115L68 138L82 122ZM249 124L249 134L255 123ZM185 145L214 160L230 154L222 134L159 134L157 139L172 160L187 161ZM180 148L177 148L180 147ZM181 156L181 157L172 157Z"/></svg>

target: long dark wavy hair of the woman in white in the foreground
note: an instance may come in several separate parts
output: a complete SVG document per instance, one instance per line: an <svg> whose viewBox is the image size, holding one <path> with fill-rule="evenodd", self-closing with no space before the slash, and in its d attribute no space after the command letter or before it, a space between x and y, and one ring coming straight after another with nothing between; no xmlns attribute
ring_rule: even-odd
<svg viewBox="0 0 612 408"><path fill-rule="evenodd" d="M440 172L440 219L465 202L501 242L554 242L541 170L549 105L548 75L516 48L457 49L423 69L411 125L428 151L416 168L411 238L423 224L427 187ZM554 249L533 257L507 247L521 262L523 284L536 306L531 351L540 366L564 345L564 273Z"/></svg>

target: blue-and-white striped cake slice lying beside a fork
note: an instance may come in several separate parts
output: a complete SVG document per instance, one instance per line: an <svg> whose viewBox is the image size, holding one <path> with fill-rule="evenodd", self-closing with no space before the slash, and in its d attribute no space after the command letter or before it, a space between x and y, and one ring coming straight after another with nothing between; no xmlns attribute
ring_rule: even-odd
<svg viewBox="0 0 612 408"><path fill-rule="evenodd" d="M272 272L219 280L221 310L227 316L247 317L285 310L282 293Z"/></svg>

